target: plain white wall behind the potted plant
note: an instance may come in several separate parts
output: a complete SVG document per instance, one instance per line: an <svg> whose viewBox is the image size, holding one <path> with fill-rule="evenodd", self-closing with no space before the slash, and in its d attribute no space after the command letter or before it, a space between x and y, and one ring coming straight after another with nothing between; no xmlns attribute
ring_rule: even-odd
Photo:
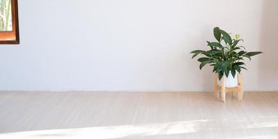
<svg viewBox="0 0 278 139"><path fill-rule="evenodd" d="M20 45L0 46L0 90L210 91L213 27L249 51L245 90L278 90L277 0L19 0Z"/></svg>

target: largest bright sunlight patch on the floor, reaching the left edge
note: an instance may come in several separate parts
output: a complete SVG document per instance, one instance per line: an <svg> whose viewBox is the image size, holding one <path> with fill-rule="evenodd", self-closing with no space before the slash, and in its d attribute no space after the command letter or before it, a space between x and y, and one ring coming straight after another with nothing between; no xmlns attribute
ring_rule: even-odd
<svg viewBox="0 0 278 139"><path fill-rule="evenodd" d="M209 120L193 120L182 122L167 122L158 124L139 124L121 126L98 126L79 129L53 129L43 131L24 131L16 133L2 133L5 139L73 139L98 138L113 139L131 136L157 136L180 133L195 133L201 129L201 123Z"/></svg>

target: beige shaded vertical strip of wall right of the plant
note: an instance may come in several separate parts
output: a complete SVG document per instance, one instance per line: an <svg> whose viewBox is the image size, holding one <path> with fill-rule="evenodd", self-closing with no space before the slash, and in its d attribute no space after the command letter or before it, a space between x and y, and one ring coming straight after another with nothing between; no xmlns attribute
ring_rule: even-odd
<svg viewBox="0 0 278 139"><path fill-rule="evenodd" d="M277 91L278 84L278 1L263 1L259 47L264 55L258 61L258 85L265 91Z"/></svg>

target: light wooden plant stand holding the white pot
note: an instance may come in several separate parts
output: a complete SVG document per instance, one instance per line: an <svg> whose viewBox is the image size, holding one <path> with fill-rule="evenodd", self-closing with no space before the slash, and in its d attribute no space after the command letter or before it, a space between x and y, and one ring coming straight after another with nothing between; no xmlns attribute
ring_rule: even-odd
<svg viewBox="0 0 278 139"><path fill-rule="evenodd" d="M218 83L218 74L215 74L215 97L219 98L219 90L221 90L222 101L226 101L226 92L231 92L232 95L234 92L238 92L238 100L242 100L243 97L243 88L242 88L242 74L238 74L238 86L234 88L226 88L226 76L222 77L222 85L219 86Z"/></svg>

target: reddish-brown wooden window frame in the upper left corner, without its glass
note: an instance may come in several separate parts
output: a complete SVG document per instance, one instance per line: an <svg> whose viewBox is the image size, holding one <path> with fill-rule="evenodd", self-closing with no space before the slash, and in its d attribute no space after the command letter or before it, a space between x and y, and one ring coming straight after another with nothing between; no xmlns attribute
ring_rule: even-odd
<svg viewBox="0 0 278 139"><path fill-rule="evenodd" d="M0 44L20 44L17 0L11 0L13 31L0 31Z"/></svg>

